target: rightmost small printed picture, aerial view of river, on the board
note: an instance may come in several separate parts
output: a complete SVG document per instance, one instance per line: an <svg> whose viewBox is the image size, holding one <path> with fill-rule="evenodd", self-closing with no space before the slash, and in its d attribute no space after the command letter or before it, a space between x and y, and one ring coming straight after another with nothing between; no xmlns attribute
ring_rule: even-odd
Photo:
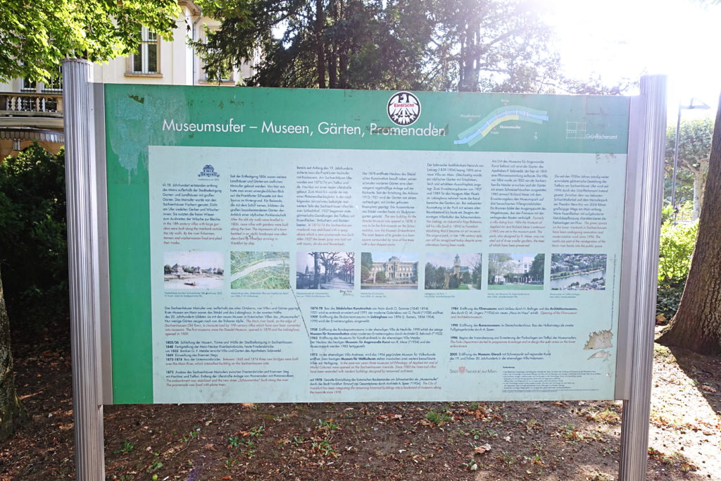
<svg viewBox="0 0 721 481"><path fill-rule="evenodd" d="M606 290L606 254L552 254L552 291Z"/></svg>

